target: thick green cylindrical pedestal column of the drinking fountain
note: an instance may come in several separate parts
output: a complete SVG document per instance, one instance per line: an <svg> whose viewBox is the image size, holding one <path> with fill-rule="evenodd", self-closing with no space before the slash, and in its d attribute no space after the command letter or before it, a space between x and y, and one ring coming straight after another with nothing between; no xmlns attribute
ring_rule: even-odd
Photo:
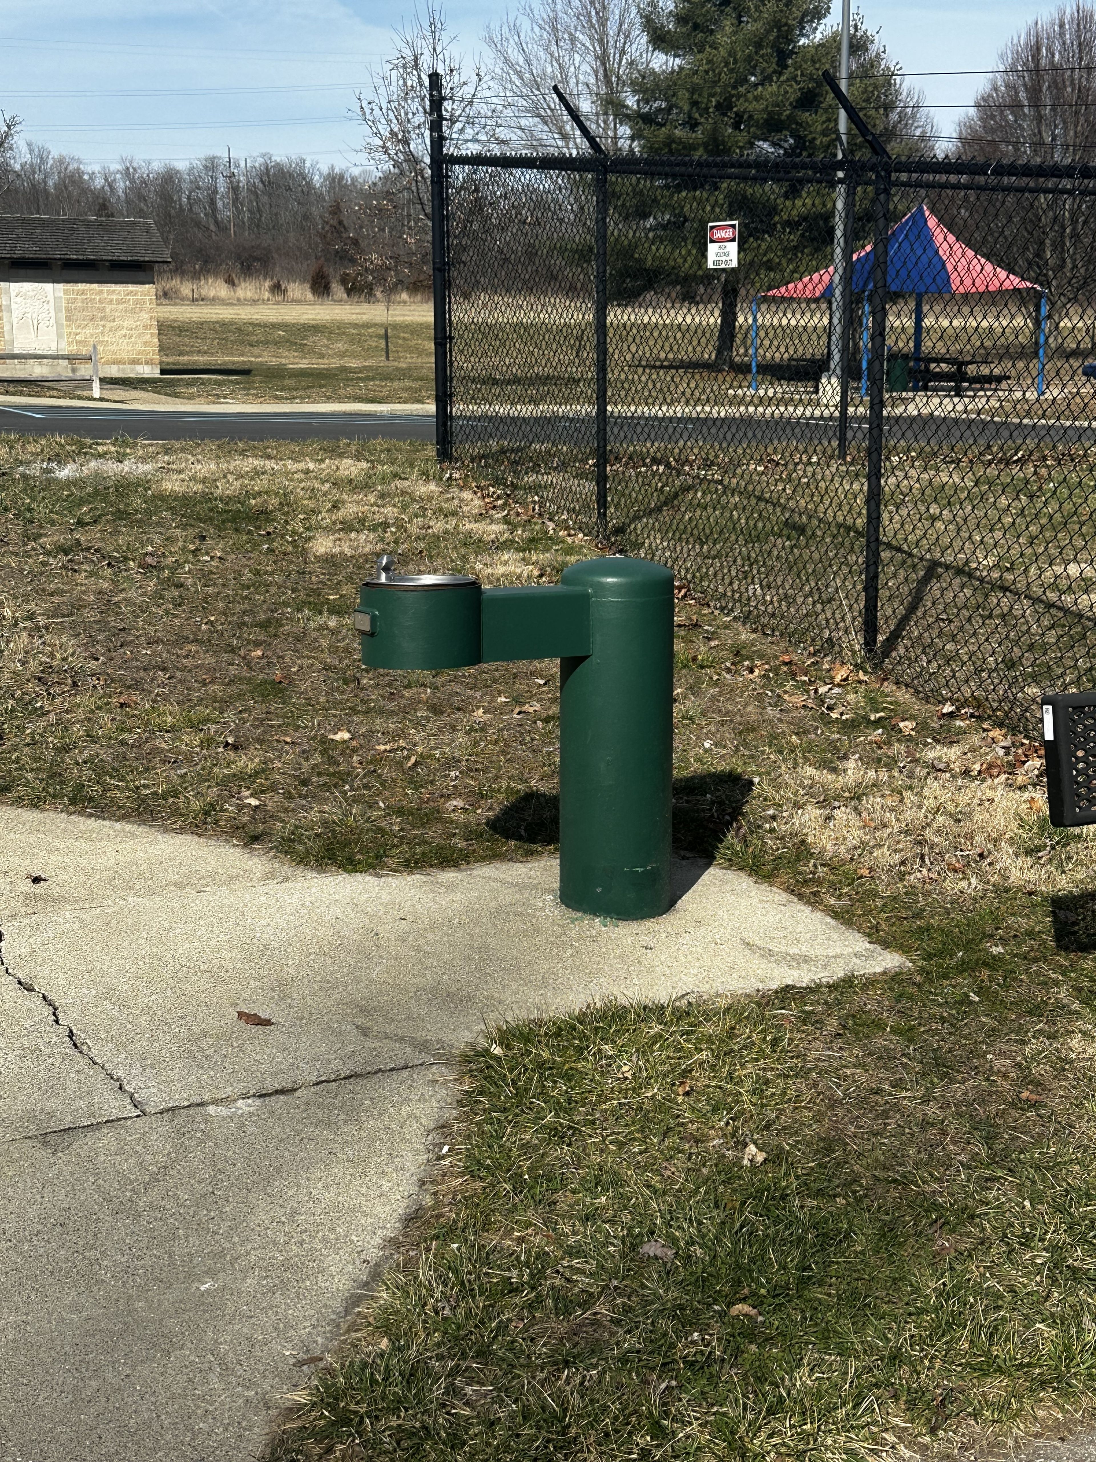
<svg viewBox="0 0 1096 1462"><path fill-rule="evenodd" d="M671 904L674 575L593 558L563 583L590 594L590 654L560 662L560 899L656 918Z"/></svg>

